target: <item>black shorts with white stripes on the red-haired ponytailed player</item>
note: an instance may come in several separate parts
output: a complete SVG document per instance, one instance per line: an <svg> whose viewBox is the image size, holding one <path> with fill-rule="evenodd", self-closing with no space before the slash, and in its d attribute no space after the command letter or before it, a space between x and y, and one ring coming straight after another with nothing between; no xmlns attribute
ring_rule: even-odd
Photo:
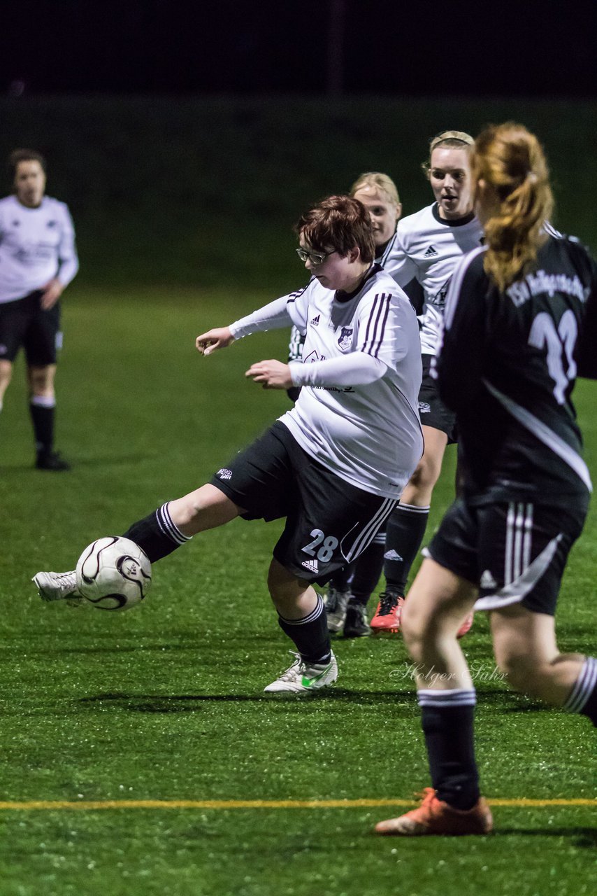
<svg viewBox="0 0 597 896"><path fill-rule="evenodd" d="M478 586L475 609L520 603L553 616L586 510L582 501L564 510L525 501L474 506L459 498L423 554Z"/></svg>

